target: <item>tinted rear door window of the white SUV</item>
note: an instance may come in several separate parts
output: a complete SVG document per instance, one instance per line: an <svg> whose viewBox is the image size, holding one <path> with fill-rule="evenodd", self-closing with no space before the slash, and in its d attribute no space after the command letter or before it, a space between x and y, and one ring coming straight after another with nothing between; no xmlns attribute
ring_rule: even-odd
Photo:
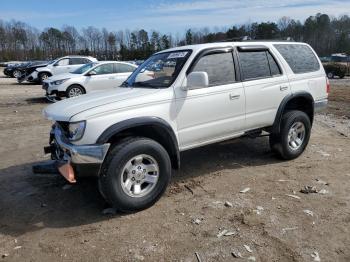
<svg viewBox="0 0 350 262"><path fill-rule="evenodd" d="M281 74L281 70L268 51L240 52L239 60L245 80L269 78Z"/></svg>

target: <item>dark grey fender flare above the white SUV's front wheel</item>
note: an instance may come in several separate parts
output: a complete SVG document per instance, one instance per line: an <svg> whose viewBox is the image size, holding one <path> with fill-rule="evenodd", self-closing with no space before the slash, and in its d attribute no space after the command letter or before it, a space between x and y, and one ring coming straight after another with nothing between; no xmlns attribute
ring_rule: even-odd
<svg viewBox="0 0 350 262"><path fill-rule="evenodd" d="M180 168L180 150L178 141L173 128L163 119L158 117L136 117L118 122L114 125L108 127L103 133L98 137L97 144L104 144L109 141L113 136L121 133L127 129L142 127L142 126L152 126L161 131L161 134L166 136L169 142L170 148L166 148L168 151L171 161L174 167ZM170 152L169 152L170 151Z"/></svg>

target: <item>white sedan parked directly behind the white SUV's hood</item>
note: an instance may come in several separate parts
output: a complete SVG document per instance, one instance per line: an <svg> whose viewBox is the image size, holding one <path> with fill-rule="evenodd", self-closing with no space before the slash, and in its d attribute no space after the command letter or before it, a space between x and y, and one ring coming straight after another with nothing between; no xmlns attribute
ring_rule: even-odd
<svg viewBox="0 0 350 262"><path fill-rule="evenodd" d="M93 62L71 73L44 80L43 89L46 91L46 97L54 102L63 97L70 98L118 87L136 68L136 65L125 62Z"/></svg>

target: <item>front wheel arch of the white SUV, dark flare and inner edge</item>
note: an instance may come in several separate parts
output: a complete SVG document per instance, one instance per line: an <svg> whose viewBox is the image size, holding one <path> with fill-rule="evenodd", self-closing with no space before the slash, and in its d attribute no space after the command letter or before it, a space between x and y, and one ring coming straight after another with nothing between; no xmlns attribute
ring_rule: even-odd
<svg viewBox="0 0 350 262"><path fill-rule="evenodd" d="M174 169L180 168L180 151L172 127L158 117L137 117L108 127L97 139L98 144L116 143L128 136L142 136L160 143L168 152Z"/></svg>

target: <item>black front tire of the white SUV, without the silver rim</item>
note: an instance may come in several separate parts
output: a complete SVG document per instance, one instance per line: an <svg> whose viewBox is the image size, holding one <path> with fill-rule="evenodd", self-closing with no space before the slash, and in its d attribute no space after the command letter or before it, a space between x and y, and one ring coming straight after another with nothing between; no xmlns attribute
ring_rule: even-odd
<svg viewBox="0 0 350 262"><path fill-rule="evenodd" d="M133 197L122 187L122 172L133 157L141 154L156 160L159 176L151 191L144 196ZM162 196L170 179L171 162L168 152L162 145L148 138L127 138L108 153L102 165L99 189L109 204L121 212L128 213L151 207Z"/></svg>

